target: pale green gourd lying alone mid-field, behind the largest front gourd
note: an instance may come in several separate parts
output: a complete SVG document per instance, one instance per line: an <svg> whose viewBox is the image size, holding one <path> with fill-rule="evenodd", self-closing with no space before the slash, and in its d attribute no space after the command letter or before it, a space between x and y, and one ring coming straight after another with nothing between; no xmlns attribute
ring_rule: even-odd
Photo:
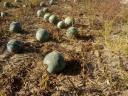
<svg viewBox="0 0 128 96"><path fill-rule="evenodd" d="M36 39L40 42L47 41L49 36L49 32L46 29L39 28L36 32Z"/></svg>

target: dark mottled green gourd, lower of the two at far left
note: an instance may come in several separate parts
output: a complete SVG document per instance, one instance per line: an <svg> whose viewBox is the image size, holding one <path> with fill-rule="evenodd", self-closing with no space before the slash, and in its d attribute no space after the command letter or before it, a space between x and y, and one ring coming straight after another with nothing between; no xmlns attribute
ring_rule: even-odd
<svg viewBox="0 0 128 96"><path fill-rule="evenodd" d="M16 39L11 39L7 43L7 51L10 53L19 53L23 49L23 42L16 40Z"/></svg>

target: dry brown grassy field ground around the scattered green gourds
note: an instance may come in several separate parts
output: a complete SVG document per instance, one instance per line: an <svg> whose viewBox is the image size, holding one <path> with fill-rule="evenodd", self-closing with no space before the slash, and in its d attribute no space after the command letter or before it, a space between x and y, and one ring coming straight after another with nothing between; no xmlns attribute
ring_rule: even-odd
<svg viewBox="0 0 128 96"><path fill-rule="evenodd" d="M5 1L15 7L4 8ZM64 20L75 18L77 38L66 36L67 28L37 17L40 1ZM26 5L23 7L23 5ZM118 0L0 0L0 96L128 96L128 6ZM19 21L23 34L9 31ZM50 32L48 42L38 42L38 28ZM24 42L20 54L7 51L10 39ZM57 50L66 68L57 74L46 71L46 54Z"/></svg>

